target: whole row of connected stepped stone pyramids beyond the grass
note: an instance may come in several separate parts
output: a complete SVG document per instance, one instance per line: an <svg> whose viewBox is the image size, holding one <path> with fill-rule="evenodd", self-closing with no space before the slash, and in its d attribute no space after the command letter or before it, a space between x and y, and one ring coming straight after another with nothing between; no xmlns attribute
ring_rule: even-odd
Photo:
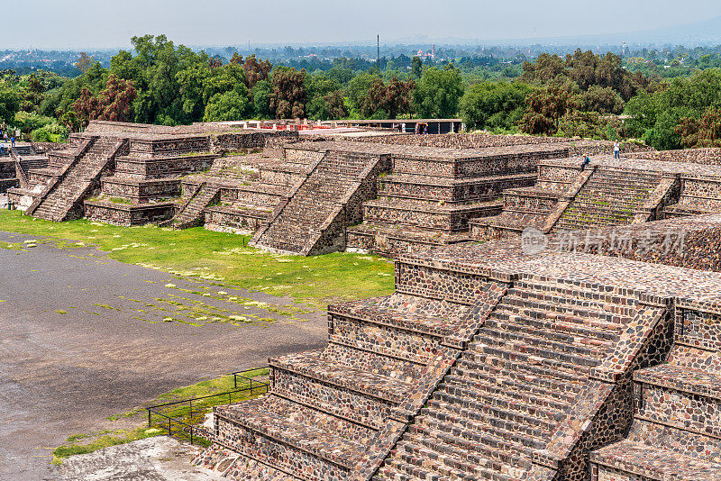
<svg viewBox="0 0 721 481"><path fill-rule="evenodd" d="M721 168L712 165L721 156L713 149L691 155L626 144L625 156L643 159L597 156L582 167L569 156L609 150L608 142L490 134L341 139L301 141L297 132L217 123L96 121L64 150L16 150L0 161L0 184L19 184L8 189L10 198L48 220L205 224L302 255L349 249L393 257L517 236L527 227L587 229L721 208Z"/></svg>

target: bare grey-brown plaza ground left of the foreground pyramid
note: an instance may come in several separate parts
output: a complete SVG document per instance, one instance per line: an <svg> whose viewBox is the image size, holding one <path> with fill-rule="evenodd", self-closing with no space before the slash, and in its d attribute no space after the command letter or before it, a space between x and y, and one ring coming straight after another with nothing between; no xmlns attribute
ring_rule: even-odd
<svg viewBox="0 0 721 481"><path fill-rule="evenodd" d="M58 479L51 452L68 436L179 386L326 343L325 313L278 312L287 298L36 243L0 249L2 480ZM181 305L243 321L185 323Z"/></svg>

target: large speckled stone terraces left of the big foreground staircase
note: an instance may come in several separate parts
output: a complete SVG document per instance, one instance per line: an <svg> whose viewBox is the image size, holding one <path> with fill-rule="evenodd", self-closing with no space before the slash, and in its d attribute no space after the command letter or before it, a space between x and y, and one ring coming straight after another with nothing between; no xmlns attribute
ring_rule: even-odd
<svg viewBox="0 0 721 481"><path fill-rule="evenodd" d="M243 466L251 459L294 479L350 479L388 426L403 425L393 410L435 376L444 337L473 312L403 294L330 306L328 347L270 359L269 395L215 409L217 444L240 453ZM265 480L264 472L241 469L233 479Z"/></svg>

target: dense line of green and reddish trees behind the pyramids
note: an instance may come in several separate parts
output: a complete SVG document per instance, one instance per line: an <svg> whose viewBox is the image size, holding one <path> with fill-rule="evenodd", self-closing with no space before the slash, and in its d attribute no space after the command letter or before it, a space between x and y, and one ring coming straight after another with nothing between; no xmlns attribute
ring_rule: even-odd
<svg viewBox="0 0 721 481"><path fill-rule="evenodd" d="M707 54L708 66L721 60ZM36 141L94 119L165 125L248 118L448 118L469 130L646 141L658 149L721 145L721 69L665 79L613 54L436 64L419 57L335 59L325 69L227 60L165 36L132 39L105 68L80 55L78 77L0 71L0 119ZM477 75L495 68L497 76ZM475 73L474 73L475 72ZM505 72L505 73L504 73Z"/></svg>

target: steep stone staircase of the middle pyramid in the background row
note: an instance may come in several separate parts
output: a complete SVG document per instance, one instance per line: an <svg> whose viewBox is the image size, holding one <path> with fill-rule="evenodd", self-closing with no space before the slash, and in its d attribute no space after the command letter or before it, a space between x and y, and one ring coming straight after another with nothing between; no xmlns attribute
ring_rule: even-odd
<svg viewBox="0 0 721 481"><path fill-rule="evenodd" d="M342 250L344 227L360 221L362 202L375 195L383 159L328 150L307 169L251 245L302 255Z"/></svg>

